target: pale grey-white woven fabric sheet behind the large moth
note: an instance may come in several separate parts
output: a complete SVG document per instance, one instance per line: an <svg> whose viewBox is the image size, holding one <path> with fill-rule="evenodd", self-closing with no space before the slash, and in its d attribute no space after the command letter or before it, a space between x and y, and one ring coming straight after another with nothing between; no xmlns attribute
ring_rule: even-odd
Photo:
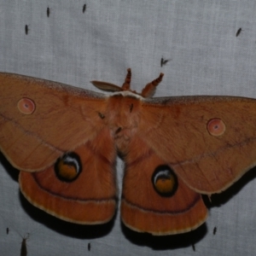
<svg viewBox="0 0 256 256"><path fill-rule="evenodd" d="M0 3L0 72L96 90L90 80L122 84L131 67L135 90L165 73L155 96L256 97L255 1L88 0L84 14L85 2L80 0ZM165 67L160 67L162 56L172 59ZM207 224L200 229L183 236L152 237L125 230L119 211L104 229L52 218L26 202L17 172L6 160L1 163L0 255L20 253L18 232L32 233L28 255L38 256L193 255L191 243L196 255L255 254L253 171L212 197ZM123 166L119 160L119 189Z"/></svg>

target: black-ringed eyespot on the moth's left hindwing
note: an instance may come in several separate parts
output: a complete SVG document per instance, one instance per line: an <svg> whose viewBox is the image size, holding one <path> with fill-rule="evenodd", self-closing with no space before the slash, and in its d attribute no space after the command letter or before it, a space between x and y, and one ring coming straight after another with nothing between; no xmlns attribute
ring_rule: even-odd
<svg viewBox="0 0 256 256"><path fill-rule="evenodd" d="M69 152L55 162L55 174L64 182L73 182L82 172L82 165L78 154Z"/></svg>

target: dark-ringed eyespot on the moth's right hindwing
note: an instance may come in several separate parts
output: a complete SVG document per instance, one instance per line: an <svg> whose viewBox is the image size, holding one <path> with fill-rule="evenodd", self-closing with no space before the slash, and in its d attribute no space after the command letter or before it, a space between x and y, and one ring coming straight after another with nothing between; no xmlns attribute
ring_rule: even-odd
<svg viewBox="0 0 256 256"><path fill-rule="evenodd" d="M152 183L154 190L161 196L172 196L177 190L177 176L169 166L156 167Z"/></svg>

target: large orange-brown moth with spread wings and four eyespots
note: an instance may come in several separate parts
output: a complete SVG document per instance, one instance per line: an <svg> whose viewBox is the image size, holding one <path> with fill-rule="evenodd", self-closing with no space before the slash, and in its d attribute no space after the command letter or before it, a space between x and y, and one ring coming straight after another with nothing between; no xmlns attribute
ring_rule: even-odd
<svg viewBox="0 0 256 256"><path fill-rule="evenodd" d="M256 163L256 100L235 96L153 98L92 81L105 95L0 73L0 149L20 170L28 201L76 224L104 224L117 207L115 162L125 162L121 219L155 236L195 230L201 194L220 193Z"/></svg>

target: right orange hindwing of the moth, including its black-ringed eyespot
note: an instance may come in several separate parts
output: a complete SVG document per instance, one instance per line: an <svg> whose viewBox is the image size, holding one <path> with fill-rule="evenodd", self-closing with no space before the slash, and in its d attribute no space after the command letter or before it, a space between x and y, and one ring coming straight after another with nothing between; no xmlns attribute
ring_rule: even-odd
<svg viewBox="0 0 256 256"><path fill-rule="evenodd" d="M196 229L207 218L201 195L183 183L140 137L125 157L121 218L131 230L156 236Z"/></svg>

